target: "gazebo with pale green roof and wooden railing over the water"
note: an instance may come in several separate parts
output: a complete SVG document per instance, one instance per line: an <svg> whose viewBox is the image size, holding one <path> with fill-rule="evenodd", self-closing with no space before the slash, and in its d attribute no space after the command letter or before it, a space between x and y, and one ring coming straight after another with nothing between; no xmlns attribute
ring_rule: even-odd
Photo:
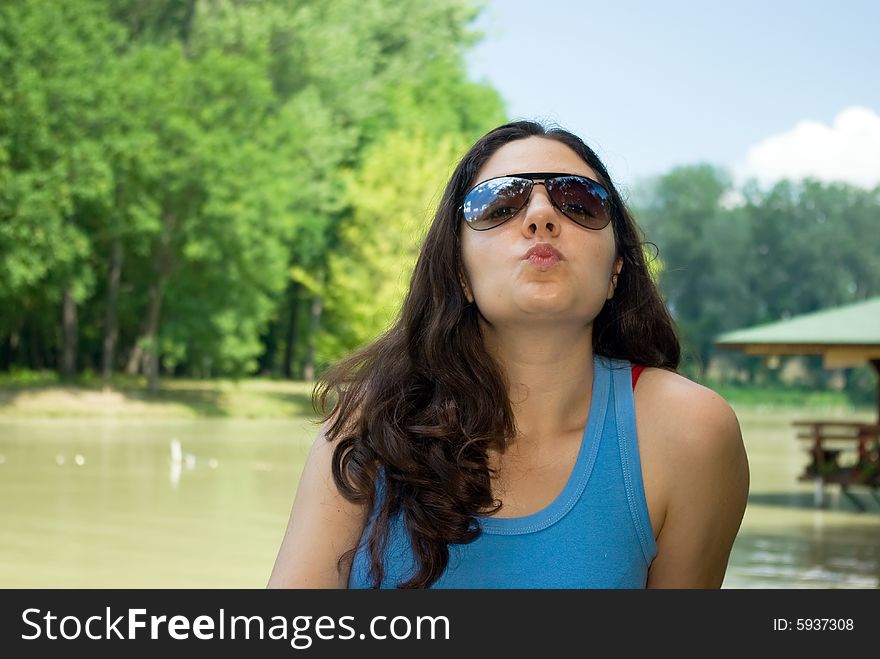
<svg viewBox="0 0 880 659"><path fill-rule="evenodd" d="M750 355L822 355L825 368L848 368L869 363L877 372L877 422L796 421L799 438L812 439L812 462L801 480L815 480L816 503L823 502L822 486L838 483L880 488L880 297L832 309L794 316L787 320L728 332L717 337L723 349L743 350ZM857 450L853 465L839 464L840 441Z"/></svg>

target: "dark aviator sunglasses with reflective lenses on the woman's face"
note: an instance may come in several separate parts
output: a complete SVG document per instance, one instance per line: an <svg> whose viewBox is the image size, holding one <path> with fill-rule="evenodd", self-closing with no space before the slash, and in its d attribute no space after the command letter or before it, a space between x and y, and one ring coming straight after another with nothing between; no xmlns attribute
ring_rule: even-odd
<svg viewBox="0 0 880 659"><path fill-rule="evenodd" d="M543 185L550 202L570 220L598 231L611 221L608 190L586 176L535 172L490 178L465 195L461 210L467 225L477 231L493 229L521 211L532 188Z"/></svg>

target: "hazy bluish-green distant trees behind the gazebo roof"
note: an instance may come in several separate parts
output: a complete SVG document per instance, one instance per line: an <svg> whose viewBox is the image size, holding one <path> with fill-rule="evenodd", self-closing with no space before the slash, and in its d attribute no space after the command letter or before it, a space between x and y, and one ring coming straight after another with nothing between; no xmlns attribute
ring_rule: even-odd
<svg viewBox="0 0 880 659"><path fill-rule="evenodd" d="M676 168L633 197L659 248L655 268L681 330L685 370L698 379L720 359L746 381L772 384L779 369L719 351L714 339L880 295L880 186L808 179L735 188L726 172L700 164ZM824 387L842 375L858 402L873 400L871 367L835 373L818 356L801 361L799 384Z"/></svg>

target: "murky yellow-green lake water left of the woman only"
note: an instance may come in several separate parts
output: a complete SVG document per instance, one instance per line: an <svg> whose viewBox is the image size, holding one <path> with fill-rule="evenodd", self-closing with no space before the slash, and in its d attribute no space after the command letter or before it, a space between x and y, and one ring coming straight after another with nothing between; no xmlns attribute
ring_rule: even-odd
<svg viewBox="0 0 880 659"><path fill-rule="evenodd" d="M306 420L0 421L0 587L262 587L314 432Z"/></svg>

